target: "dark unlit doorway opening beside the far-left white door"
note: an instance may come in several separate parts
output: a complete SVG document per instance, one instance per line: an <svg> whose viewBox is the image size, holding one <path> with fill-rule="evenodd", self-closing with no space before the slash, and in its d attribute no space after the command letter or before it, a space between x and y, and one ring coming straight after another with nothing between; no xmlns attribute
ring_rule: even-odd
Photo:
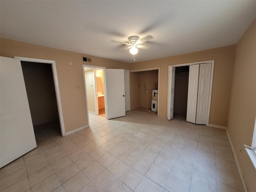
<svg viewBox="0 0 256 192"><path fill-rule="evenodd" d="M52 65L21 61L21 66L35 134L61 135Z"/></svg>

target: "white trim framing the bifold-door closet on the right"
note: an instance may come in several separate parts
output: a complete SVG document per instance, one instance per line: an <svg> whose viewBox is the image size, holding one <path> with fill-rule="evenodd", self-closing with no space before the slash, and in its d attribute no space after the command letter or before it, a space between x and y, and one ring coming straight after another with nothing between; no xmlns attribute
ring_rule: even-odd
<svg viewBox="0 0 256 192"><path fill-rule="evenodd" d="M211 99L212 99L212 82L213 82L213 72L214 72L214 60L209 61L199 61L199 62L192 62L192 63L184 63L184 64L176 64L176 65L169 65L168 66L168 90L171 84L171 74L170 74L170 67L180 67L180 66L189 66L189 65L195 65L195 64L203 64L203 63L211 63L211 78L210 78L210 92L209 92L209 100L208 100L208 110L207 110L207 119L206 119L206 126L209 126L209 117L210 117L210 106L211 106ZM170 95L168 92L168 98L167 98L167 118L168 118L168 111L170 111Z"/></svg>

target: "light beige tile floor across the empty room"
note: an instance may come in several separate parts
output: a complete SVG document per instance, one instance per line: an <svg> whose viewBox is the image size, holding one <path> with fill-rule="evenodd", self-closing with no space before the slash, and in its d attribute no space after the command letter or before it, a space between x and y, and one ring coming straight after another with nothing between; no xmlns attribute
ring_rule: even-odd
<svg viewBox="0 0 256 192"><path fill-rule="evenodd" d="M225 130L144 108L89 116L65 137L36 126L37 148L1 168L1 192L243 192Z"/></svg>

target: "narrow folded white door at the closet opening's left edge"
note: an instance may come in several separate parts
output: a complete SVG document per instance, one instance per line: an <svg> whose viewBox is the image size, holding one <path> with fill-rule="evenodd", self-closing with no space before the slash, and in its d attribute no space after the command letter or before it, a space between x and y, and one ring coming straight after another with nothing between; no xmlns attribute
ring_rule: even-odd
<svg viewBox="0 0 256 192"><path fill-rule="evenodd" d="M168 112L168 120L171 120L173 118L173 111L174 111L174 85L175 85L175 67L170 67L170 88L169 88L169 93L168 96L169 101L170 101L170 111Z"/></svg>

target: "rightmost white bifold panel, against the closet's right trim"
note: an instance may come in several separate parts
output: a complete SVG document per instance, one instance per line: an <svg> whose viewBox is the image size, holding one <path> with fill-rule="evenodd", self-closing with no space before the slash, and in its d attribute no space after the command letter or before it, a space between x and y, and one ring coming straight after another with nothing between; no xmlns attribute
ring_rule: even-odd
<svg viewBox="0 0 256 192"><path fill-rule="evenodd" d="M211 63L200 64L196 124L206 124L210 92Z"/></svg>

